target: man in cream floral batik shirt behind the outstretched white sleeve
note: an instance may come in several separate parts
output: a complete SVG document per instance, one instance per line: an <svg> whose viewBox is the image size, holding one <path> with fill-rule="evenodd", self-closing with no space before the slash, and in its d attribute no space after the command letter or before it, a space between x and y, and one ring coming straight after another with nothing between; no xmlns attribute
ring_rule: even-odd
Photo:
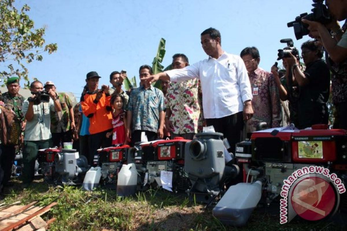
<svg viewBox="0 0 347 231"><path fill-rule="evenodd" d="M188 65L186 55L172 56L172 69L181 69ZM165 106L165 124L171 133L171 139L181 136L192 140L196 133L202 131L201 85L198 79L171 82Z"/></svg>

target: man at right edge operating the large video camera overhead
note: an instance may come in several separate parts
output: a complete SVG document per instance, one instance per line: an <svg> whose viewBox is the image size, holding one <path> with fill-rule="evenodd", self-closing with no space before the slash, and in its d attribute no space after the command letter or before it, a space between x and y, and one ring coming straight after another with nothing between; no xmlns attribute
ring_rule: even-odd
<svg viewBox="0 0 347 231"><path fill-rule="evenodd" d="M347 0L326 0L325 3L332 16L329 23L307 19L302 19L302 22L308 25L309 36L322 43L332 61L332 101L336 109L334 128L347 129L347 25L345 23L340 28L338 23L347 18Z"/></svg>

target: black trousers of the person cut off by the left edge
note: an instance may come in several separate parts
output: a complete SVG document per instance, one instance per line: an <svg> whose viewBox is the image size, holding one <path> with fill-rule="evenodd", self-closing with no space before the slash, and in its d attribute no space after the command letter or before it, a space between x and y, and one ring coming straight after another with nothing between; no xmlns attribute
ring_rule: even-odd
<svg viewBox="0 0 347 231"><path fill-rule="evenodd" d="M12 145L1 145L1 169L3 171L3 178L1 184L6 185L11 178L13 161L16 157L16 148Z"/></svg>

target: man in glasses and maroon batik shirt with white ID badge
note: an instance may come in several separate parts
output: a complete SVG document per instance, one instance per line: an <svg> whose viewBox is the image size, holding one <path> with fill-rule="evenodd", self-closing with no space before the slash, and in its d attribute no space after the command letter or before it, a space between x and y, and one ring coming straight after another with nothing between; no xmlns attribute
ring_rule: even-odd
<svg viewBox="0 0 347 231"><path fill-rule="evenodd" d="M246 123L246 132L256 131L260 122L269 127L281 124L281 106L278 89L273 74L260 68L260 55L256 47L246 47L240 54L245 62L252 88L253 117Z"/></svg>

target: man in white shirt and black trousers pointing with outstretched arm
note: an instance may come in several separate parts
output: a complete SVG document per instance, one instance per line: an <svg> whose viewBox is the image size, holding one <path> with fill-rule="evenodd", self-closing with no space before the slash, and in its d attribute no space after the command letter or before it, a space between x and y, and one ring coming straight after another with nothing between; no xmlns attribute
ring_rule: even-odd
<svg viewBox="0 0 347 231"><path fill-rule="evenodd" d="M220 32L208 28L201 33L201 44L208 59L183 69L165 71L146 79L181 82L198 78L201 81L204 118L228 139L229 151L235 152L244 120L253 115L252 92L243 60L222 50Z"/></svg>

